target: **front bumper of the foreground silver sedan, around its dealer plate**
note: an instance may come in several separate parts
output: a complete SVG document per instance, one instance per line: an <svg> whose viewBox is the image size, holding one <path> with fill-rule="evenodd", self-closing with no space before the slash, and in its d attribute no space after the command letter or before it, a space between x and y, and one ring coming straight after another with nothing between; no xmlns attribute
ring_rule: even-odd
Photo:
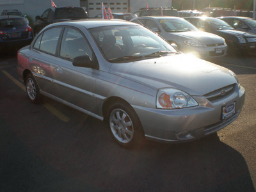
<svg viewBox="0 0 256 192"><path fill-rule="evenodd" d="M194 97L199 103L193 108L184 109L150 109L133 106L138 114L145 137L150 140L164 142L186 142L203 138L208 134L223 129L236 120L243 108L245 92L244 88L236 87L236 90L223 99L205 104L202 97ZM200 101L201 100L201 101ZM236 113L222 120L222 107L236 102ZM188 132L193 134L190 138L179 138L177 134Z"/></svg>

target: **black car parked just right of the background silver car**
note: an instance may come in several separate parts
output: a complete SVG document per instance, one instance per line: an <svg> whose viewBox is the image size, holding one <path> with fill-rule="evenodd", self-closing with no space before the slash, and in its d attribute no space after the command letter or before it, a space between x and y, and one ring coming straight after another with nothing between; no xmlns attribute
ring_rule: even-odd
<svg viewBox="0 0 256 192"><path fill-rule="evenodd" d="M227 22L212 17L185 17L196 28L214 33L225 38L230 51L237 53L247 53L256 51L256 35L253 33L238 31Z"/></svg>

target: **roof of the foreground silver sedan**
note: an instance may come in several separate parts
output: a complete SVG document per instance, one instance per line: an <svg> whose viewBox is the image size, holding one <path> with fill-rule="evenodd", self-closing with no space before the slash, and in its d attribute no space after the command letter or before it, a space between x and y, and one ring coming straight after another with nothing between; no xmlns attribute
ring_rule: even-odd
<svg viewBox="0 0 256 192"><path fill-rule="evenodd" d="M69 20L65 22L57 22L50 26L61 26L61 25L70 25L70 26L84 26L86 29L90 28L99 28L104 26L122 26L122 25L138 25L134 22L129 22L126 20L120 19L81 19L81 20Z"/></svg>

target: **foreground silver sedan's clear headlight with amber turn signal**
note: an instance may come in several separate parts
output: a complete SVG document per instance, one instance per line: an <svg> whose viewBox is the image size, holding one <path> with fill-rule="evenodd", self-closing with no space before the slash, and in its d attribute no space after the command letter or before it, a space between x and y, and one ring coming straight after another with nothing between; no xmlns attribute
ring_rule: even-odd
<svg viewBox="0 0 256 192"><path fill-rule="evenodd" d="M159 109L177 109L198 106L188 93L174 88L163 88L157 92L156 107Z"/></svg>

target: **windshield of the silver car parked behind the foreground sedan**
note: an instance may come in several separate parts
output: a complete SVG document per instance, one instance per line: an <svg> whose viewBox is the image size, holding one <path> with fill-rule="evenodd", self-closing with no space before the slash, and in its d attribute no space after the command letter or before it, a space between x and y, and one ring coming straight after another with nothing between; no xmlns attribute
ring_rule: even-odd
<svg viewBox="0 0 256 192"><path fill-rule="evenodd" d="M184 19L159 19L166 32L197 31L195 26Z"/></svg>

